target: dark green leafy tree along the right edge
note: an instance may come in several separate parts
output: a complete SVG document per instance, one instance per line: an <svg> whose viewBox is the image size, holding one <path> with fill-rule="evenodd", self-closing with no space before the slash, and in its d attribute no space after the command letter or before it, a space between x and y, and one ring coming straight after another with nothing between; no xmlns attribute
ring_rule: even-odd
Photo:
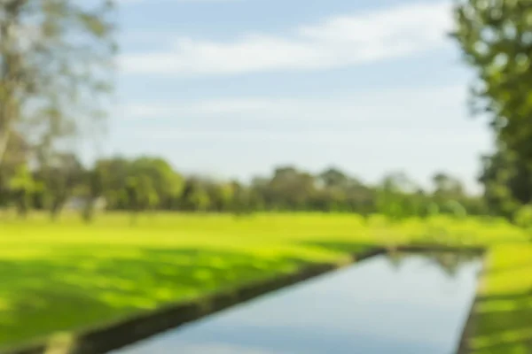
<svg viewBox="0 0 532 354"><path fill-rule="evenodd" d="M482 159L489 212L512 218L532 199L532 3L461 0L453 33L476 72L473 112L490 119L497 151Z"/></svg>

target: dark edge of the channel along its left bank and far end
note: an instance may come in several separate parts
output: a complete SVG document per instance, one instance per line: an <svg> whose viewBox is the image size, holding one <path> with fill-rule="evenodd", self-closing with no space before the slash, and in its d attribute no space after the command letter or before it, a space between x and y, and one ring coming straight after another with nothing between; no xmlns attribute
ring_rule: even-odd
<svg viewBox="0 0 532 354"><path fill-rule="evenodd" d="M296 272L281 274L273 278L252 281L238 289L221 291L189 302L170 304L152 312L137 314L103 326L86 328L28 343L19 348L1 350L2 354L100 354L117 350L126 345L139 342L153 335L161 334L220 312L233 305L241 304L255 297L286 288L318 275L340 269L345 266L387 252L463 252L483 253L476 247L447 247L434 245L404 245L374 248L353 255L348 262L311 264ZM462 353L460 353L462 354Z"/></svg>

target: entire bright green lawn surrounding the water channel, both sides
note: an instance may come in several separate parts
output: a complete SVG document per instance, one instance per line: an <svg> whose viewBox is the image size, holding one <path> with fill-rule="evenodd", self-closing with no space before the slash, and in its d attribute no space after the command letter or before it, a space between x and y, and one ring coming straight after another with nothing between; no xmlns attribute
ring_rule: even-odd
<svg viewBox="0 0 532 354"><path fill-rule="evenodd" d="M156 214L129 226L108 214L86 226L0 219L0 346L120 319L306 263L340 261L375 245L433 242L489 247L472 345L528 352L530 235L499 219L349 214ZM519 315L518 315L519 313ZM521 350L521 351L519 351Z"/></svg>

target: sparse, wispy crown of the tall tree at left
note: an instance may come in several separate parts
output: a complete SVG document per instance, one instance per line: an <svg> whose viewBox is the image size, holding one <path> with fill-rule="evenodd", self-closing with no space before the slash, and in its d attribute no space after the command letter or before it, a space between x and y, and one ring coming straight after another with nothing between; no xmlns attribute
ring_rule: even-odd
<svg viewBox="0 0 532 354"><path fill-rule="evenodd" d="M58 138L102 117L113 29L109 0L0 2L0 165L16 132L45 159Z"/></svg>

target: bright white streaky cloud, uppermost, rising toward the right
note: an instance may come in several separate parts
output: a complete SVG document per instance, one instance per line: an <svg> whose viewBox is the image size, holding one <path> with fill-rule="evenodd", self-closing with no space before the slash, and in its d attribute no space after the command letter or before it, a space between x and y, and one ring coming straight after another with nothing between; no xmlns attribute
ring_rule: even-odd
<svg viewBox="0 0 532 354"><path fill-rule="evenodd" d="M124 73L197 75L317 70L404 57L444 45L450 6L408 4L230 42L178 37L167 51L126 53L120 64Z"/></svg>

